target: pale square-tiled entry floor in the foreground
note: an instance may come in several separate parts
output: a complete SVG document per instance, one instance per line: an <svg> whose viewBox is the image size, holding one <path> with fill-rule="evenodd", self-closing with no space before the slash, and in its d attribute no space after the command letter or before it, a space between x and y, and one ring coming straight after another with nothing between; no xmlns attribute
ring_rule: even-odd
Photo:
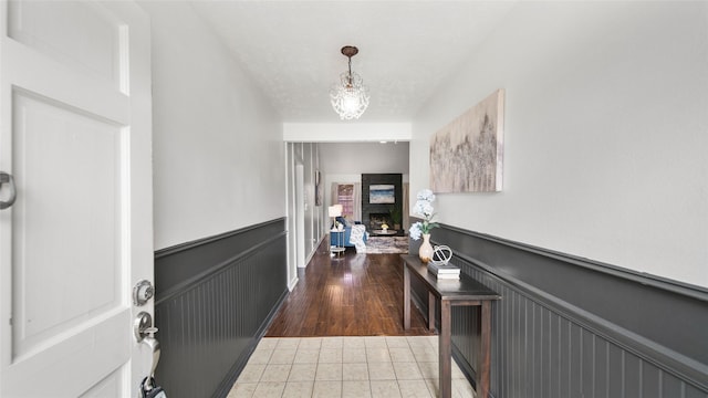
<svg viewBox="0 0 708 398"><path fill-rule="evenodd" d="M228 398L438 396L437 336L377 336L262 338ZM455 360L452 397L475 397Z"/></svg>

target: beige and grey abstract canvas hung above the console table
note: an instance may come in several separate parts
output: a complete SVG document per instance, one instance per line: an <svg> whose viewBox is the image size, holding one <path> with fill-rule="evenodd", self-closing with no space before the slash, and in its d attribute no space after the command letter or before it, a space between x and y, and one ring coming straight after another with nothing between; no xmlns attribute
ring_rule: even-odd
<svg viewBox="0 0 708 398"><path fill-rule="evenodd" d="M430 138L434 192L501 191L504 91L498 90Z"/></svg>

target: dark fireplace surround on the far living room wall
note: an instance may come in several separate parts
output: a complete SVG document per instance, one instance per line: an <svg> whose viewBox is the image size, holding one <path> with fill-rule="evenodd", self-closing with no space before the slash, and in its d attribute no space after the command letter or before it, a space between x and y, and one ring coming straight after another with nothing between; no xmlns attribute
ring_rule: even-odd
<svg viewBox="0 0 708 398"><path fill-rule="evenodd" d="M394 186L395 203L382 205L368 202L368 187L372 185L389 184ZM385 222L394 228L391 219L391 208L403 213L403 175L402 174L363 174L362 175L362 223L367 231L381 229Z"/></svg>

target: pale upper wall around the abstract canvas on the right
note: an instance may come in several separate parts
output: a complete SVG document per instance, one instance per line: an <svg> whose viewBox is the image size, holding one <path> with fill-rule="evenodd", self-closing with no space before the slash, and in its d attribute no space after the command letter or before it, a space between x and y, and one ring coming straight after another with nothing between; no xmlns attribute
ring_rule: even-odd
<svg viewBox="0 0 708 398"><path fill-rule="evenodd" d="M430 135L506 88L503 191L440 221L708 286L707 2L524 2L470 51L414 121L412 196Z"/></svg>

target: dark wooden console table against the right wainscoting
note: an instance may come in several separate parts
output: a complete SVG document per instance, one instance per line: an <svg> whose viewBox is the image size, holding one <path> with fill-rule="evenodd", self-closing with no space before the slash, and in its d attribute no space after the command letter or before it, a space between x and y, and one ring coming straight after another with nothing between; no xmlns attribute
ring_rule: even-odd
<svg viewBox="0 0 708 398"><path fill-rule="evenodd" d="M426 264L417 255L402 254L403 268L403 324L410 328L410 275L423 283L428 291L428 328L435 328L435 308L440 307L440 329L438 333L440 397L449 398L452 391L451 379L451 307L454 305L473 305L481 307L480 352L477 364L477 397L489 396L489 367L491 359L491 301L501 296L478 281L460 275L460 280L441 280L428 273Z"/></svg>

